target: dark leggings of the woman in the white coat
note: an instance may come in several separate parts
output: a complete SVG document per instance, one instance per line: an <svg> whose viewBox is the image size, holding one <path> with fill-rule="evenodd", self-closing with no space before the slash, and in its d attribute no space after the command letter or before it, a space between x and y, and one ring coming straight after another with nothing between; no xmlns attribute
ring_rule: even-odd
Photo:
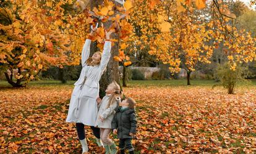
<svg viewBox="0 0 256 154"><path fill-rule="evenodd" d="M79 140L85 139L85 125L82 123L75 123L75 126L77 128L77 135L79 136ZM90 127L93 131L93 135L100 139L100 128L95 128L93 126Z"/></svg>

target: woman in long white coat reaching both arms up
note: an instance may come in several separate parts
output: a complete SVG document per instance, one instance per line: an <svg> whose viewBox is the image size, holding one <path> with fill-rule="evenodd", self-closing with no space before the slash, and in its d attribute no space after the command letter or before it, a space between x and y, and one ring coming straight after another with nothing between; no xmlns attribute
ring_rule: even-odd
<svg viewBox="0 0 256 154"><path fill-rule="evenodd" d="M103 54L95 52L92 57L90 55L90 44L96 28L93 28L86 39L82 50L82 71L77 82L74 84L74 90L71 95L69 112L66 121L68 123L76 123L77 134L80 144L82 145L83 153L88 152L87 140L85 139L84 126L91 126L96 142L100 150L103 150L103 145L100 140L100 129L95 128L95 121L98 112L96 97L99 94L99 81L103 71L108 65L111 51L111 41L109 36L113 31L105 31L106 40L104 44Z"/></svg>

